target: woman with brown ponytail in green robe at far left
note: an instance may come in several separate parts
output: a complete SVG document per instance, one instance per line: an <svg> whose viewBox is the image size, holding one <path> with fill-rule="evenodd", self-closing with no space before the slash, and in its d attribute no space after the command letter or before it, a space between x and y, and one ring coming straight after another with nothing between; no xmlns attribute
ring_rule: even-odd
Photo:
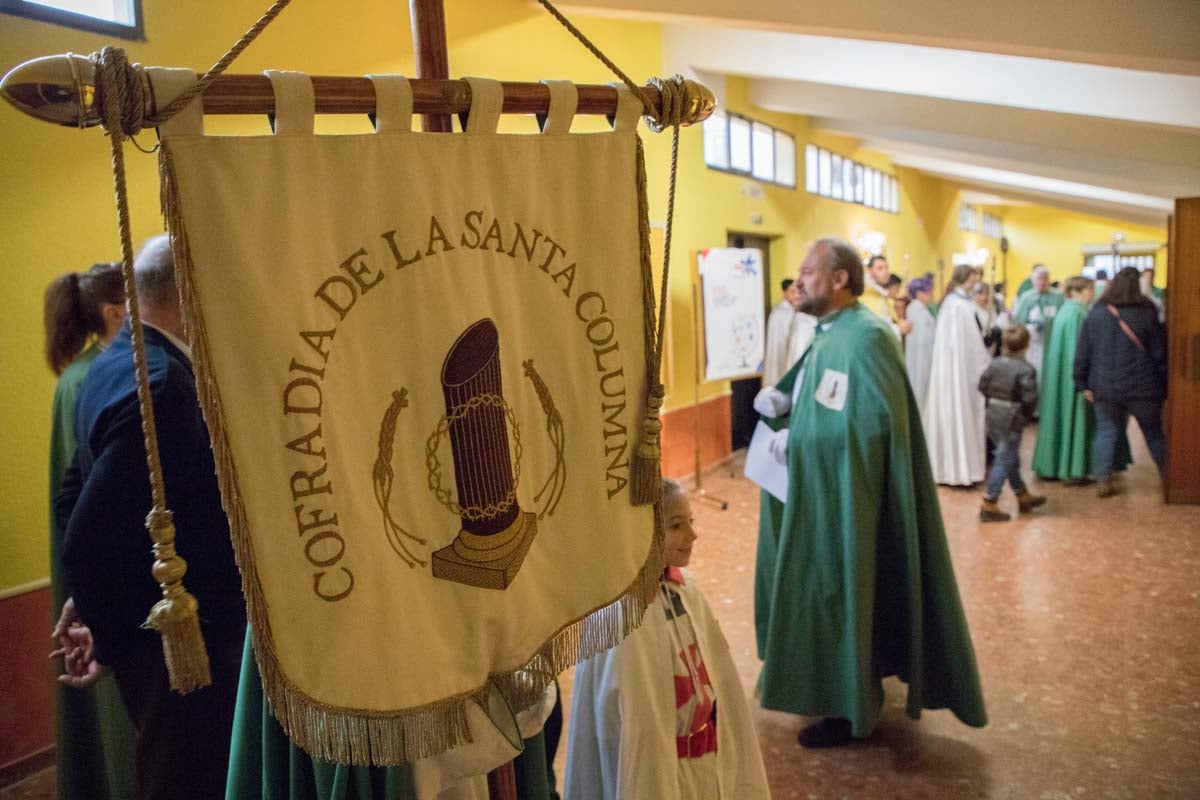
<svg viewBox="0 0 1200 800"><path fill-rule="evenodd" d="M120 264L67 272L46 289L46 361L59 384L50 421L50 501L74 458L74 409L92 359L125 323ZM130 365L132 369L132 365ZM50 594L55 610L71 596L59 554L62 531L50 513ZM56 745L60 798L100 800L138 796L132 765L133 726L116 685L104 679L78 690L58 685Z"/></svg>

